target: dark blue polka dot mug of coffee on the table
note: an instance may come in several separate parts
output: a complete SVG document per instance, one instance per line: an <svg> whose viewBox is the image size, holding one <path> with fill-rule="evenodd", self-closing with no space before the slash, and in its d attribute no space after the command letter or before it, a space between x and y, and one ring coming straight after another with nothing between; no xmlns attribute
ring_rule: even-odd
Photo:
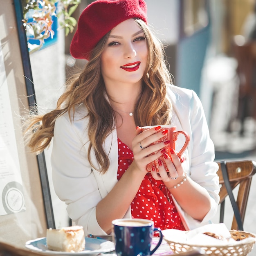
<svg viewBox="0 0 256 256"><path fill-rule="evenodd" d="M155 231L159 232L159 241L150 251ZM154 222L146 219L113 220L112 236L118 256L152 255L163 239L161 229L154 228Z"/></svg>

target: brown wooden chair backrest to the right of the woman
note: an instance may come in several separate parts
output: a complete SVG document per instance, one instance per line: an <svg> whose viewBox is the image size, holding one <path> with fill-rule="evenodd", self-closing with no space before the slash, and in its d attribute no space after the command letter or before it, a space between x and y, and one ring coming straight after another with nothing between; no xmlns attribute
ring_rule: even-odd
<svg viewBox="0 0 256 256"><path fill-rule="evenodd" d="M218 162L219 170L218 176L220 179L220 204L224 202L225 198L228 196L228 192L224 183L221 164ZM236 186L239 185L238 195L236 198L236 204L240 212L242 223L245 219L245 210L247 207L247 201L250 191L250 186L252 182L252 176L256 173L256 163L251 160L245 161L229 161L226 162L227 174L229 177L229 182L231 189L234 190ZM231 229L238 230L238 224L234 216Z"/></svg>

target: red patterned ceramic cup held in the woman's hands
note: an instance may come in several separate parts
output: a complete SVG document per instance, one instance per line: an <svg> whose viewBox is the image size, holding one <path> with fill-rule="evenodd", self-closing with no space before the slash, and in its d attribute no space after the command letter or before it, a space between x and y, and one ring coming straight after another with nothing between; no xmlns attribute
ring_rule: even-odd
<svg viewBox="0 0 256 256"><path fill-rule="evenodd" d="M141 131L143 132L143 131L148 130L149 128L152 128L152 127L157 127L157 126L143 126L143 127L141 127ZM162 137L161 139L159 139L158 141L156 141L153 144L156 144L156 143L159 143L159 142L162 142L162 141L166 141L166 140L171 141L170 144L168 144L165 147L166 148L166 154L168 154L171 157L170 148L173 148L175 150L175 141L178 139L178 136L180 134L182 134L182 135L185 136L185 143L184 143L182 149L180 150L180 152L177 154L180 157L184 153L184 151L186 150L187 146L189 145L189 140L190 140L189 135L185 131L176 131L176 126L171 126L171 125L161 125L161 128L160 128L159 131L161 132L163 130L168 130L168 133L164 137ZM157 132L159 132L159 131L157 131ZM153 154L155 154L155 153L153 153ZM147 171L148 172L151 171L153 165L155 166L155 168L157 168L157 172L159 171L158 162L157 162L158 159L162 160L164 168L166 169L166 171L168 171L168 168L166 167L164 159L161 156L161 157L157 158L155 161L153 161L153 162L151 162L150 164L147 165Z"/></svg>

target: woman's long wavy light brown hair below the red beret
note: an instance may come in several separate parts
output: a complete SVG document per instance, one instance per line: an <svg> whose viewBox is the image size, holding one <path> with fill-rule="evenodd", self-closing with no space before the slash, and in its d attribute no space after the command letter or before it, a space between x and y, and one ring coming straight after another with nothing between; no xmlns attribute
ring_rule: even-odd
<svg viewBox="0 0 256 256"><path fill-rule="evenodd" d="M144 32L148 46L148 63L143 76L141 95L134 109L135 124L137 126L170 124L172 105L166 97L166 86L171 83L171 75L166 67L164 47L144 21L140 19L135 19L135 21ZM89 162L93 166L90 159L93 149L101 166L98 171L105 173L108 170L110 161L108 153L103 149L103 142L114 129L116 119L114 110L106 97L101 76L101 53L109 34L110 32L92 50L90 61L86 63L83 71L74 75L67 83L65 92L58 99L56 109L45 115L33 115L27 120L25 141L31 152L38 154L47 148L54 135L56 119L68 112L72 122L76 106L83 103L88 110L85 118L89 118Z"/></svg>

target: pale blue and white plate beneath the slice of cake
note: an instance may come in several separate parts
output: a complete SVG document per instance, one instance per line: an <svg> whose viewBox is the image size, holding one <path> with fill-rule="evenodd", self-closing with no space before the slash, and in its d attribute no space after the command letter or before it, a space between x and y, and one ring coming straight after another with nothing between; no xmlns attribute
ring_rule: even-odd
<svg viewBox="0 0 256 256"><path fill-rule="evenodd" d="M95 239L85 237L85 249L82 252L57 252L49 250L46 244L46 238L37 238L29 240L26 247L34 252L40 252L47 255L95 255L103 252L112 252L115 250L115 244L105 239Z"/></svg>

